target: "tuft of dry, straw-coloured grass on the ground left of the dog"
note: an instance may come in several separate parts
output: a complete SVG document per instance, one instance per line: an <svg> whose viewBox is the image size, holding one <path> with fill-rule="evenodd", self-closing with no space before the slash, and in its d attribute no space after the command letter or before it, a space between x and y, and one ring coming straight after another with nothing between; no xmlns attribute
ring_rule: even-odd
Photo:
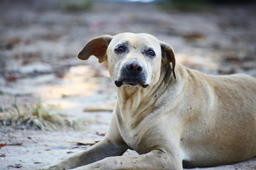
<svg viewBox="0 0 256 170"><path fill-rule="evenodd" d="M43 105L41 101L33 105L18 106L16 99L6 111L0 108L0 127L13 126L32 130L62 130L85 128L83 120L70 120L60 113L58 106Z"/></svg>

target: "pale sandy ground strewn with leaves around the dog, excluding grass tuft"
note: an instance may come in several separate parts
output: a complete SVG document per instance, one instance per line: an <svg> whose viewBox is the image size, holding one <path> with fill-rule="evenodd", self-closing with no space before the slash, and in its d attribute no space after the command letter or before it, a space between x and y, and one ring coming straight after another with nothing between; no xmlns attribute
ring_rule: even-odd
<svg viewBox="0 0 256 170"><path fill-rule="evenodd" d="M115 87L106 64L75 57L96 36L151 33L172 45L178 62L190 68L256 77L255 5L183 12L154 4L92 3L70 11L61 2L0 2L0 116L15 100L28 107L41 101L85 126L42 131L0 121L0 143L8 144L0 147L0 169L38 169L88 147L73 142L102 139L97 134L107 130ZM207 169L256 169L256 159Z"/></svg>

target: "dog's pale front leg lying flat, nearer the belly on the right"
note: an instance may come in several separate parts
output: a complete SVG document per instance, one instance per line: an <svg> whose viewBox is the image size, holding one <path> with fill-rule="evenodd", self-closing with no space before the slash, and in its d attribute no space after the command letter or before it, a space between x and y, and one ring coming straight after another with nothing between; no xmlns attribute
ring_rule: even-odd
<svg viewBox="0 0 256 170"><path fill-rule="evenodd" d="M163 152L161 149L153 150L147 154L130 155L122 157L107 157L86 166L80 166L73 170L117 170L117 169L137 169L155 170L171 169L182 170L181 160L174 159L171 154Z"/></svg>

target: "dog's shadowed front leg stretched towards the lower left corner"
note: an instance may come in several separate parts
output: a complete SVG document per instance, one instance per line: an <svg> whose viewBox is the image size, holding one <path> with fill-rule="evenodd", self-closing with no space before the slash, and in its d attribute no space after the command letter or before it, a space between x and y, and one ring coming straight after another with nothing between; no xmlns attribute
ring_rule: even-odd
<svg viewBox="0 0 256 170"><path fill-rule="evenodd" d="M83 166L86 164L91 164L97 162L100 159L105 157L112 157L123 154L127 150L126 145L119 145L111 140L108 140L106 137L104 140L98 142L96 145L93 145L85 152L80 154L75 154L73 157L64 159L57 164L43 167L39 170L58 170L58 169L73 169L78 166Z"/></svg>

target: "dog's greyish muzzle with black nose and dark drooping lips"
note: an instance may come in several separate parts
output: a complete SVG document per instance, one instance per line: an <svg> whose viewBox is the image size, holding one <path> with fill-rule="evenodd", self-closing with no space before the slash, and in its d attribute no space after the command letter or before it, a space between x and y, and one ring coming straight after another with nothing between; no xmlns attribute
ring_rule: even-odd
<svg viewBox="0 0 256 170"><path fill-rule="evenodd" d="M119 80L114 81L117 87L127 84L130 86L142 86L146 88L149 84L146 84L146 71L142 64L136 61L127 62L121 69L121 76Z"/></svg>

